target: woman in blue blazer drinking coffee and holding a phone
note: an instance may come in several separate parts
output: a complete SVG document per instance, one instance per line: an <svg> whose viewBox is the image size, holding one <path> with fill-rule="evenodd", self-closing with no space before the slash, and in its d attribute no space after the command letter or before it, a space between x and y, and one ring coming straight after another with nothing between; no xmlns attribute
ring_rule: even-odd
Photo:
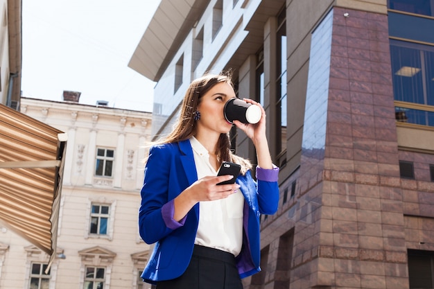
<svg viewBox="0 0 434 289"><path fill-rule="evenodd" d="M259 216L277 211L279 168L259 123L234 121L257 150L257 182L250 162L232 154L223 114L234 98L226 75L205 75L187 89L173 132L150 148L141 189L139 230L153 254L141 275L157 289L243 288L241 278L259 272ZM223 161L241 165L235 184L217 185ZM220 284L221 283L221 284Z"/></svg>

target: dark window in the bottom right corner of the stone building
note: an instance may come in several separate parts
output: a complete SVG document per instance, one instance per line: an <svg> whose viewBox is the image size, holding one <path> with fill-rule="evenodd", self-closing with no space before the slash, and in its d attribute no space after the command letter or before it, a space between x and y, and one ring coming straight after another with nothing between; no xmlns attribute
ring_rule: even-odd
<svg viewBox="0 0 434 289"><path fill-rule="evenodd" d="M434 252L408 250L408 281L410 289L434 288Z"/></svg>

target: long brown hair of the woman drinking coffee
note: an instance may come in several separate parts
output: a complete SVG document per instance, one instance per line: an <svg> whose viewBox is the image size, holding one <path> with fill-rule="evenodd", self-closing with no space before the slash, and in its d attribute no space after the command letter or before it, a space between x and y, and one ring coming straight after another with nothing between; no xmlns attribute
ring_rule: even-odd
<svg viewBox="0 0 434 289"><path fill-rule="evenodd" d="M232 76L229 72L220 74L205 74L200 78L193 80L189 88L186 90L184 100L182 100L181 112L172 132L166 137L157 141L157 143L174 143L177 141L184 141L193 137L196 134L197 123L194 119L194 114L198 109L198 105L204 96L214 85L226 82L234 87L232 83ZM234 155L231 150L231 143L229 140L229 132L220 134L217 142L217 160L221 164L222 161L232 161L241 165L241 173L247 172L252 168L252 164L247 159Z"/></svg>

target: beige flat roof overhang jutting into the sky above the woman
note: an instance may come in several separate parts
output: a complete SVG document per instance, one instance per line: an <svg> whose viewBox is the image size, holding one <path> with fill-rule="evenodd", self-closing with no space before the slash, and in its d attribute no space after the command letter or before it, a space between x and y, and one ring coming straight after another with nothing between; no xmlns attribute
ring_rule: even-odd
<svg viewBox="0 0 434 289"><path fill-rule="evenodd" d="M158 81L208 3L209 0L162 0L128 67Z"/></svg>

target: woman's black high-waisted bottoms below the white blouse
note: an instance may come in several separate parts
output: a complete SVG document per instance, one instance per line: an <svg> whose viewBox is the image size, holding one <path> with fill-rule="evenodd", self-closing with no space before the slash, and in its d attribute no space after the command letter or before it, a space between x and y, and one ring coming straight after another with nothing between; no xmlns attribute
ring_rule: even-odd
<svg viewBox="0 0 434 289"><path fill-rule="evenodd" d="M157 289L243 289L235 257L219 249L194 245L189 266L180 277L157 282Z"/></svg>

